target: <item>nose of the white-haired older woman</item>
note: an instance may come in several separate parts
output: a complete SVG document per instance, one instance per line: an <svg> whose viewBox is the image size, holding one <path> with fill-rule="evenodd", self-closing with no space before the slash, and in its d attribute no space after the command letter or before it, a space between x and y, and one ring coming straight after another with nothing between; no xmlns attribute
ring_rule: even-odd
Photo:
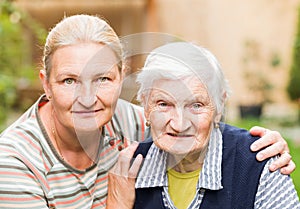
<svg viewBox="0 0 300 209"><path fill-rule="evenodd" d="M191 121L185 117L184 110L177 109L173 112L169 124L174 131L184 132L190 128Z"/></svg>

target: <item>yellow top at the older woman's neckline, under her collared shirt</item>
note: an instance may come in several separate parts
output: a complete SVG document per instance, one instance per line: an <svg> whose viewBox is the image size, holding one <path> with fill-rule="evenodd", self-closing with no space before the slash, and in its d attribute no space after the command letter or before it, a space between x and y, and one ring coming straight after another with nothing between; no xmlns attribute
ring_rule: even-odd
<svg viewBox="0 0 300 209"><path fill-rule="evenodd" d="M189 173L168 170L169 195L176 208L186 209L194 199L200 170Z"/></svg>

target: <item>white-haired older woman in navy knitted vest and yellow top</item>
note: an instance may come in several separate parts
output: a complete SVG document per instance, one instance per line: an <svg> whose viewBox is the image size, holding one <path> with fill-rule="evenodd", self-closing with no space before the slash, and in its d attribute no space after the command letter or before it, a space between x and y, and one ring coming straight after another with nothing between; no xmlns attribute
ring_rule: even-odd
<svg viewBox="0 0 300 209"><path fill-rule="evenodd" d="M249 147L256 138L221 123L229 88L208 50L185 42L159 47L137 81L151 138L138 146L129 173L125 157L113 171L134 177L144 157L133 208L300 208L292 179L269 171L274 158L255 159ZM133 178L120 179L120 194L133 187ZM132 207L132 194L123 194L119 208Z"/></svg>

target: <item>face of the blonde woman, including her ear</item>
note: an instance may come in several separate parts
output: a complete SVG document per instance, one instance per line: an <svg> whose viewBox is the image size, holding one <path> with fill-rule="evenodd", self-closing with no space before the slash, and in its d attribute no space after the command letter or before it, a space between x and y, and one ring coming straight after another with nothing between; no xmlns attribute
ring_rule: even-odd
<svg viewBox="0 0 300 209"><path fill-rule="evenodd" d="M50 77L42 80L60 125L91 131L111 120L122 84L118 62L102 44L79 43L54 52Z"/></svg>

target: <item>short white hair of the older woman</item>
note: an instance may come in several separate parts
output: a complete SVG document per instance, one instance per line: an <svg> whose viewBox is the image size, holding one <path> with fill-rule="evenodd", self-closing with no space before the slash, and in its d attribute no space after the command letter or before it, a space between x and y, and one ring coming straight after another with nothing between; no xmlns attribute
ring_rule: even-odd
<svg viewBox="0 0 300 209"><path fill-rule="evenodd" d="M137 76L137 99L143 104L142 98L147 100L156 80L195 76L206 86L217 113L223 114L230 89L220 64L210 51L188 42L169 43L150 52Z"/></svg>

